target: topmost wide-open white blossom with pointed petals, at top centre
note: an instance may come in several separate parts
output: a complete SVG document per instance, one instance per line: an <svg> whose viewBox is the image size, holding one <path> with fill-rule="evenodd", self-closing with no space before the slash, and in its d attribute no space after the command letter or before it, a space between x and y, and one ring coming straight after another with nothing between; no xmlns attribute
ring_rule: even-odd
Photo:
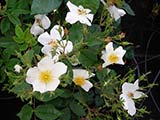
<svg viewBox="0 0 160 120"><path fill-rule="evenodd" d="M91 22L93 20L93 14L90 14L90 9L85 9L83 6L77 7L72 4L70 1L67 2L67 6L70 12L67 13L65 20L70 24L74 24L76 22L80 22L82 24L86 24L91 26Z"/></svg>

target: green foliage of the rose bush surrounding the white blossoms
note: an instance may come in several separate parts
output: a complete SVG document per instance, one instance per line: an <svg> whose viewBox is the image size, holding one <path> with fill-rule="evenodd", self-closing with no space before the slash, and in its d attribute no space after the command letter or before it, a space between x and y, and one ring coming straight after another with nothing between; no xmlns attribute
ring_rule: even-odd
<svg viewBox="0 0 160 120"><path fill-rule="evenodd" d="M75 24L66 22L67 2L68 0L6 0L6 5L0 8L0 83L4 85L4 90L26 102L17 116L20 120L130 120L119 96L124 82L134 82L137 79L136 71L116 64L102 68L104 61L101 56L105 46L113 42L114 46L121 46L126 50L124 61L133 60L133 44L120 37L120 24L115 24L118 21L114 21L107 6L101 4L100 0L71 0L73 4L91 10L90 14L94 14L91 26L82 25L80 21ZM125 9L128 14L135 15L125 1L117 0L116 5ZM63 26L65 31L62 39L73 43L70 53L65 54L65 50L59 53L58 62L64 63L67 71L59 77L58 88L45 93L35 91L33 85L26 82L28 69L35 66L37 68L39 61L45 56L42 53L43 46L38 42L39 35L34 36L30 32L33 24L43 29L42 23L34 19L33 15L37 14L47 15L51 20L51 27ZM76 16L71 19L74 18ZM51 27L44 31L50 34ZM63 46L64 48L67 46ZM16 64L22 67L20 72L15 71ZM93 85L88 92L82 86L74 84L73 69L86 69L89 73L94 73L91 78L86 79ZM140 81L145 80L145 77L141 76ZM37 79L40 79L39 75L35 77ZM153 85L142 88L150 87ZM142 99L136 101L136 104ZM136 117L142 117L144 113L147 113L145 108L138 109Z"/></svg>

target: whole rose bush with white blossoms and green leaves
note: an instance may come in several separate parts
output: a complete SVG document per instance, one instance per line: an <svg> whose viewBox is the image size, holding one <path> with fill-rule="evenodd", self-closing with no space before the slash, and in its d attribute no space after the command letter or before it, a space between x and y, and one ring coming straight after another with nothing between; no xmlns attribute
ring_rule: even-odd
<svg viewBox="0 0 160 120"><path fill-rule="evenodd" d="M21 120L122 120L148 113L138 105L152 87L136 75L133 44L121 17L124 0L7 0L1 6L4 90L26 104Z"/></svg>

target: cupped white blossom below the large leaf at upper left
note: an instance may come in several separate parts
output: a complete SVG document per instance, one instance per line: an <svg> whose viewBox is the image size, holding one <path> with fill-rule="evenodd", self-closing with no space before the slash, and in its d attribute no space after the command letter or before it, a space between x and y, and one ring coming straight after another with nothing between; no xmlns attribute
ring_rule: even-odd
<svg viewBox="0 0 160 120"><path fill-rule="evenodd" d="M34 36L40 35L44 32L44 29L48 29L51 25L49 18L46 15L35 15L35 21L32 25L30 32Z"/></svg>

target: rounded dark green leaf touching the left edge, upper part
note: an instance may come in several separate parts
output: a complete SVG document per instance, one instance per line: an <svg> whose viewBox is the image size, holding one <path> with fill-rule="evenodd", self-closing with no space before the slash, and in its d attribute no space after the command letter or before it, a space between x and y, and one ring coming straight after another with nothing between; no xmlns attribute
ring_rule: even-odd
<svg viewBox="0 0 160 120"><path fill-rule="evenodd" d="M1 27L1 32L3 34L6 33L10 29L10 22L9 22L9 20L6 19L6 18L2 19L0 27Z"/></svg>

